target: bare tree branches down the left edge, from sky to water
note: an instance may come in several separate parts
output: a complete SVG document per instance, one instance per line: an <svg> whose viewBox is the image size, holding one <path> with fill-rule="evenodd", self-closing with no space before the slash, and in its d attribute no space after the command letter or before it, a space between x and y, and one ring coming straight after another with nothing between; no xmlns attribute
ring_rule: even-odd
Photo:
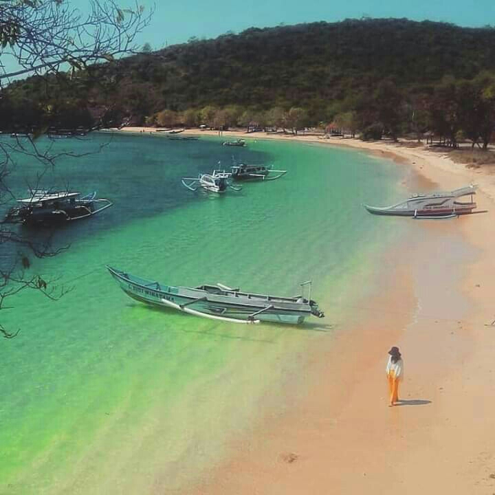
<svg viewBox="0 0 495 495"><path fill-rule="evenodd" d="M39 241L36 240L39 236L30 236L29 231L21 234L3 220L2 210L16 199L9 179L12 171L16 170L18 176L22 171L19 170L19 157L27 157L39 164L35 177L25 176L26 187L34 192L59 160L98 153L109 144L99 144L96 151L85 153L59 152L54 140L43 140L41 145L37 138L47 133L48 127L53 125L50 122L57 122L56 119L60 118L60 113L52 109L54 103L50 91L56 94L70 84L79 83L79 80L81 84L104 80L104 63L119 63L122 56L136 51L136 36L148 25L153 11L145 13L135 0L131 8L123 8L115 0L89 0L85 12L66 0L0 0L0 113L10 115L5 85L14 78L41 77L46 92L46 103L43 101L38 103L38 107L33 106L35 111L32 114L21 102L18 113L25 117L22 121L13 123L12 116L6 124L3 120L11 129L25 126L22 131L25 135L19 137L14 133L14 139L0 139L0 246L10 256L10 263L0 259L0 310L8 309L5 301L25 290L40 292L50 300L58 300L71 290L58 285L57 278L32 273L30 262L30 255L40 259L57 256L69 246L53 248L54 232L47 232ZM102 87L105 91L112 91L116 83L109 78ZM47 107L43 108L45 118L39 118L42 105ZM91 115L93 123L86 126L85 132L102 129L109 122L115 126L126 123L113 106L97 110L96 115ZM0 336L3 338L12 339L18 333L19 329L11 331L0 322Z"/></svg>

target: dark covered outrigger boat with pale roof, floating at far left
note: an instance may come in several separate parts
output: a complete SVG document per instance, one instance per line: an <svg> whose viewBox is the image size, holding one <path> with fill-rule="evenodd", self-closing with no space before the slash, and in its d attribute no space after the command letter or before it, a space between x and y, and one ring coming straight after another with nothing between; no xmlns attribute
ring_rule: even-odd
<svg viewBox="0 0 495 495"><path fill-rule="evenodd" d="M80 197L80 192L34 190L17 202L20 206L8 211L5 223L54 225L91 217L113 204L109 199L96 199L96 191Z"/></svg>

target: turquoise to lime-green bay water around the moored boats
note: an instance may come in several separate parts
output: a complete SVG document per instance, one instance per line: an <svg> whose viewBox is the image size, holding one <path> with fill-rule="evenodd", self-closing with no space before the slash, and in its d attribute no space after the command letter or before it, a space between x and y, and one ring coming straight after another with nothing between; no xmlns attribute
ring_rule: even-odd
<svg viewBox="0 0 495 495"><path fill-rule="evenodd" d="M55 146L84 152L107 140ZM297 386L305 349L345 320L336 301L364 289L377 247L397 235L393 219L361 203L397 199L400 170L355 151L257 141L235 158L273 163L285 177L223 197L181 186L231 155L215 139L115 135L100 153L63 158L43 177L41 186L97 189L115 204L55 232L55 245L69 250L33 260L32 273L70 289L61 300L23 292L1 311L3 325L21 328L0 342L1 494L148 493L194 480L265 408L284 407L283 386L287 377ZM18 195L35 171L19 160ZM289 296L311 279L327 317L252 327L160 311L125 296L105 264L173 285Z"/></svg>

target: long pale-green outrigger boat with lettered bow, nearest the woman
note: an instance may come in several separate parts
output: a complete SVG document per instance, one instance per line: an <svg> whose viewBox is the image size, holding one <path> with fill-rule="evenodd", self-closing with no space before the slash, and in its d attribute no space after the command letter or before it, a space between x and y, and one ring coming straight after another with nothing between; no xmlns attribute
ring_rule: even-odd
<svg viewBox="0 0 495 495"><path fill-rule="evenodd" d="M184 313L213 320L235 323L302 323L307 316L323 318L314 300L311 300L311 282L308 298L267 296L232 289L222 284L180 287L160 284L133 276L107 266L120 288L131 298L159 307L170 307Z"/></svg>

